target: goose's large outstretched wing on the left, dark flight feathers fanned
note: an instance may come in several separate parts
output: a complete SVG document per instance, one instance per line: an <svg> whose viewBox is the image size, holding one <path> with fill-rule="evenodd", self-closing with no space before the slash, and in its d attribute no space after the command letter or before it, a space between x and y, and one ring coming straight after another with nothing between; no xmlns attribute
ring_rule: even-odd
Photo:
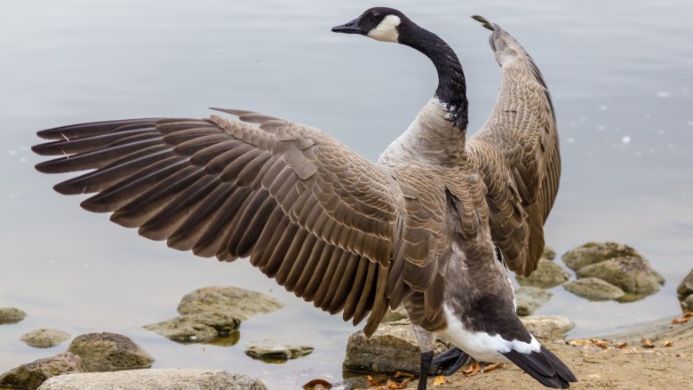
<svg viewBox="0 0 693 390"><path fill-rule="evenodd" d="M172 248L226 261L250 256L288 291L345 321L370 312L370 333L391 299L431 286L445 232L433 190L413 185L421 173L370 163L299 123L221 111L241 121L212 115L40 131L52 141L33 150L62 156L36 169L87 171L55 189L95 193L84 209L112 212L114 222Z"/></svg>

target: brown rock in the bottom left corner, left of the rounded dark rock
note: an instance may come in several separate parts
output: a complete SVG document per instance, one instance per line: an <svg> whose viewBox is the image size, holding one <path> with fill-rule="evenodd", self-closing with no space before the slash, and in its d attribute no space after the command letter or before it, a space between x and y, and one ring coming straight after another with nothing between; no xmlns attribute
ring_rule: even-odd
<svg viewBox="0 0 693 390"><path fill-rule="evenodd" d="M82 358L76 354L64 352L35 362L22 364L0 376L0 387L20 386L36 389L48 378L57 375L84 372Z"/></svg>

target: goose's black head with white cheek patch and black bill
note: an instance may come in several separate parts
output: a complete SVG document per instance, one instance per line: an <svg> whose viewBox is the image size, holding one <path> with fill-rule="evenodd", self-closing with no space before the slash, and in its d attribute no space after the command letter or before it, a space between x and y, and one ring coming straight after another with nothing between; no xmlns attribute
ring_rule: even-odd
<svg viewBox="0 0 693 390"><path fill-rule="evenodd" d="M393 8L369 8L358 18L332 28L335 33L359 34L382 42L400 43L400 26L410 20Z"/></svg>

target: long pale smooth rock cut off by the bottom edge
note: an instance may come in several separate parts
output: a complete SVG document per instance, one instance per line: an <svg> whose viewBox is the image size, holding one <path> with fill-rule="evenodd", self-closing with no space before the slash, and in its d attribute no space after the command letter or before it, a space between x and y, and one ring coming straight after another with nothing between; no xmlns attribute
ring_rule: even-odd
<svg viewBox="0 0 693 390"><path fill-rule="evenodd" d="M125 370L51 378L39 390L267 390L259 379L224 370Z"/></svg>

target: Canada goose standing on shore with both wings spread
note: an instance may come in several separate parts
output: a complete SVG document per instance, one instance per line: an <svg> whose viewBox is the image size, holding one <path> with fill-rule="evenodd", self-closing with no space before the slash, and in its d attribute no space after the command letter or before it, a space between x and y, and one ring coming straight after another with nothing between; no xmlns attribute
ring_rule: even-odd
<svg viewBox="0 0 693 390"><path fill-rule="evenodd" d="M438 75L433 98L377 163L314 127L212 108L220 114L39 131L49 141L34 152L60 157L36 169L86 171L55 190L95 194L85 210L179 251L248 258L316 307L365 319L367 336L403 305L421 350L419 390L429 370L450 374L468 356L569 387L575 375L515 313L509 278L529 275L544 247L561 169L554 108L514 37L474 19L491 30L503 78L472 137L455 52L402 12L376 7L332 31L410 46ZM454 347L434 360L437 336Z"/></svg>

